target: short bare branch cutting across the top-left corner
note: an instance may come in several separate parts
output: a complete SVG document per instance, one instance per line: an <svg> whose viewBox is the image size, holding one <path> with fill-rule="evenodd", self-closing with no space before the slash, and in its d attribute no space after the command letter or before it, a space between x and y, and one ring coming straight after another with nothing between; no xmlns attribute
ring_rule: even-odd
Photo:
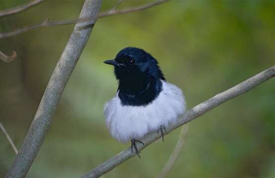
<svg viewBox="0 0 275 178"><path fill-rule="evenodd" d="M9 8L9 9L1 10L0 11L0 17L22 12L22 11L24 11L24 10L26 10L26 9L32 7L32 6L35 6L35 5L37 5L41 2L44 2L44 1L46 1L46 0L33 0L33 1L30 1L30 2L27 2L23 5L19 5L17 7L12 7L12 8Z"/></svg>

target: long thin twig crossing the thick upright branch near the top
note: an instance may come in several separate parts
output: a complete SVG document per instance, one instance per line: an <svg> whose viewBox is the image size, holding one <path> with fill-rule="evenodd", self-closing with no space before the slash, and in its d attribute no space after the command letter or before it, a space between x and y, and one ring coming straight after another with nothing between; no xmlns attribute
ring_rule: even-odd
<svg viewBox="0 0 275 178"><path fill-rule="evenodd" d="M69 24L75 24L77 22L85 22L85 21L89 21L89 20L95 20L95 19L98 19L98 18L107 17L107 16L111 16L111 15L118 15L118 14L125 14L125 13L130 13L130 12L141 11L141 10L145 10L147 8L153 7L155 5L159 5L161 3L164 3L166 1L168 1L168 0L157 0L155 2L150 2L150 3L147 3L145 5L141 5L141 6L133 7L133 8L129 8L129 9L128 8L127 9L122 9L122 10L110 9L106 12L99 13L98 16L93 16L93 17L83 17L83 18L77 18L77 19L72 19L72 20L48 21L47 23L42 22L40 24L21 27L21 28L18 28L16 30L13 30L13 31L10 31L10 32L0 33L0 39L16 36L16 35L19 35L19 34L22 34L22 33L25 33L25 32L32 31L32 30L37 29L37 28L41 28L41 27L51 27L51 26L57 26L57 25L69 25Z"/></svg>

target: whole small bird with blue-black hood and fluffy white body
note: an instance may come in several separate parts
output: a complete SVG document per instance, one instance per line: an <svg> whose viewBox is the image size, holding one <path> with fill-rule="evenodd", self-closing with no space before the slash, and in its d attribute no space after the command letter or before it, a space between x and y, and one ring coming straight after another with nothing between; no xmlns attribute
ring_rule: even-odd
<svg viewBox="0 0 275 178"><path fill-rule="evenodd" d="M185 112L181 89L166 81L157 59L144 49L125 47L114 59L104 61L114 66L118 89L104 107L106 126L113 138L122 143L136 143L152 132L164 132Z"/></svg>

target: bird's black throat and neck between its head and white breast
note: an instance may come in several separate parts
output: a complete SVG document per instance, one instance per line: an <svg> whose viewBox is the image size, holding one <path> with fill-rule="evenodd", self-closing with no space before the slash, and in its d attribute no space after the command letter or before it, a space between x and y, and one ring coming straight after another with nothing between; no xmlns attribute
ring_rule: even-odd
<svg viewBox="0 0 275 178"><path fill-rule="evenodd" d="M122 105L146 106L158 97L162 89L161 79L153 76L129 76L119 80L118 96Z"/></svg>

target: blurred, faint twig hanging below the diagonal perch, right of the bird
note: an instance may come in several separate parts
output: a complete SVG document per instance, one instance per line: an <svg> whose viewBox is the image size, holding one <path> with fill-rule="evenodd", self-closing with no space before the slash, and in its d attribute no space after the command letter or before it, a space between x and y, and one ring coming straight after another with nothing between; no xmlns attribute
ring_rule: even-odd
<svg viewBox="0 0 275 178"><path fill-rule="evenodd" d="M171 170L171 168L173 167L173 165L174 165L176 159L178 158L179 153L184 145L184 140L185 140L187 133L188 133L188 125L182 126L176 146L175 146L173 152L171 153L168 161L166 162L164 168L162 169L160 174L157 176L157 178L165 178L166 174Z"/></svg>

